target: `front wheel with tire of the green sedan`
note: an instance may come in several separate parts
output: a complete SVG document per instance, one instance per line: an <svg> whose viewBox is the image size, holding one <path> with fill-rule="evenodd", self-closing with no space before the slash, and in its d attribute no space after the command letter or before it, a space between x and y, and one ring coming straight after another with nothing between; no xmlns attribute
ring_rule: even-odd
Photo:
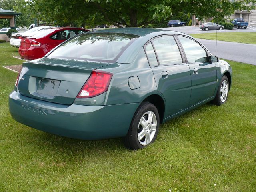
<svg viewBox="0 0 256 192"><path fill-rule="evenodd" d="M212 101L215 105L222 105L228 100L229 82L227 76L223 76L217 91L217 94Z"/></svg>

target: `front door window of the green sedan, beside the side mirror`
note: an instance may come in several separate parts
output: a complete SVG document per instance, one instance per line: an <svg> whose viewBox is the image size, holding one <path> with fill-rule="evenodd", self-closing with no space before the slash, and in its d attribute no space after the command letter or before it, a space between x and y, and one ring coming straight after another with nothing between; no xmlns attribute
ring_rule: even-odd
<svg viewBox="0 0 256 192"><path fill-rule="evenodd" d="M189 63L208 62L206 51L200 44L190 38L178 36Z"/></svg>

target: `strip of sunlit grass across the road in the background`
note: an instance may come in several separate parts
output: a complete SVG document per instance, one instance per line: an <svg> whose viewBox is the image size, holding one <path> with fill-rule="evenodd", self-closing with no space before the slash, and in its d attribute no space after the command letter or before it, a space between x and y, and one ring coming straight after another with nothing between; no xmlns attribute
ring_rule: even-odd
<svg viewBox="0 0 256 192"><path fill-rule="evenodd" d="M191 34L191 36L198 39L216 40L216 33ZM217 40L256 44L256 32L217 32Z"/></svg>

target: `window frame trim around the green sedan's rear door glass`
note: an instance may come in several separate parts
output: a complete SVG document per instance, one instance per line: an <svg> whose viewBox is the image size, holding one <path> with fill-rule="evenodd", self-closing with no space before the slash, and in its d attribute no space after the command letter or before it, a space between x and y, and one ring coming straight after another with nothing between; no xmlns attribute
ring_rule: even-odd
<svg viewBox="0 0 256 192"><path fill-rule="evenodd" d="M173 36L173 38L174 38L174 40L175 40L175 42L176 42L176 44L177 44L177 46L178 46L178 49L179 49L179 51L180 51L180 56L181 56L182 63L160 65L160 62L159 62L159 60L158 60L158 55L157 55L157 53L156 53L156 49L155 49L154 44L152 43L152 40L154 40L154 39L156 39L156 38L163 37L163 36ZM147 59L148 59L148 55L147 55L147 52L146 52L146 46L147 46L149 43L151 43L152 46L153 46L153 48L154 48L154 52L155 52L155 54L156 54L156 59L157 59L158 66L180 65L180 64L185 64L185 63L187 63L186 60L185 60L184 54L183 54L183 52L182 52L182 50L181 50L182 47L181 47L180 44L178 43L178 40L177 40L175 34L159 35L159 36L155 36L154 38L148 40L148 42L146 42L146 43L144 44L144 46L143 46L143 49L144 49L144 51L145 51L145 54L146 54ZM150 65L149 60L148 60L148 63L149 63L149 65ZM158 67L158 66L150 66L150 67Z"/></svg>

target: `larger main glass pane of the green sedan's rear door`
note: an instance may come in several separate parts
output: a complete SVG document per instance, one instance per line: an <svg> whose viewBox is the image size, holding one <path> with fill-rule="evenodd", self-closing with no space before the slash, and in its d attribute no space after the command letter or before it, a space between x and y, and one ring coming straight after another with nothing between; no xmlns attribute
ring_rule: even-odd
<svg viewBox="0 0 256 192"><path fill-rule="evenodd" d="M182 63L180 50L173 36L162 36L152 40L160 65Z"/></svg>

